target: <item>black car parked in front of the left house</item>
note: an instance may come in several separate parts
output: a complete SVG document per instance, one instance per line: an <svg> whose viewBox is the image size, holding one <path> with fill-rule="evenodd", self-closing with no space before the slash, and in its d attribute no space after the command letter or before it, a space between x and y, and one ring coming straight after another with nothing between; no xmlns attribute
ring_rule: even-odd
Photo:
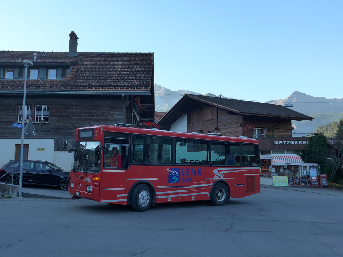
<svg viewBox="0 0 343 257"><path fill-rule="evenodd" d="M8 172L8 173L7 173ZM10 161L0 168L0 181L7 184L19 185L20 161ZM4 175L7 173L6 175ZM48 161L23 161L23 184L38 184L58 186L68 190L70 172L63 170Z"/></svg>

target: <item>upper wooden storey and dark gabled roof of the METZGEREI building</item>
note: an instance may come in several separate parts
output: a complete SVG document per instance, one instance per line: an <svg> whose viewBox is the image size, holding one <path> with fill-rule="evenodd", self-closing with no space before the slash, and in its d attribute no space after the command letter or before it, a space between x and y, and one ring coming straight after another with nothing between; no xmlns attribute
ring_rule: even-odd
<svg viewBox="0 0 343 257"><path fill-rule="evenodd" d="M245 130L245 126L259 129L258 138L264 138L265 133L288 137L292 136L292 120L313 119L278 105L186 94L157 124L161 129L169 130L181 114L187 114L185 125L189 133L250 138L253 131Z"/></svg>

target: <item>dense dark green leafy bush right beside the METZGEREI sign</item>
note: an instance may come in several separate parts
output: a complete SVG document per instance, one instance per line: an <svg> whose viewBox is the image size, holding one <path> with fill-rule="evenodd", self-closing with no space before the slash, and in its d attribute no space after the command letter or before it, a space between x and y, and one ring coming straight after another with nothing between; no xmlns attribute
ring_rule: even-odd
<svg viewBox="0 0 343 257"><path fill-rule="evenodd" d="M309 137L305 150L299 150L298 155L305 163L317 163L320 172L326 173L326 158L328 154L328 141L323 133L316 133Z"/></svg>

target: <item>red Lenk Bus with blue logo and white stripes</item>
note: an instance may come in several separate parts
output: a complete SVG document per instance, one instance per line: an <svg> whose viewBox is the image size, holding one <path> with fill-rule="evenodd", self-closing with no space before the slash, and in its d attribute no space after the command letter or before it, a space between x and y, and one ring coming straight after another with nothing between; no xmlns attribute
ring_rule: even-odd
<svg viewBox="0 0 343 257"><path fill-rule="evenodd" d="M260 192L258 140L180 133L129 125L76 129L69 193L145 211L166 202Z"/></svg>

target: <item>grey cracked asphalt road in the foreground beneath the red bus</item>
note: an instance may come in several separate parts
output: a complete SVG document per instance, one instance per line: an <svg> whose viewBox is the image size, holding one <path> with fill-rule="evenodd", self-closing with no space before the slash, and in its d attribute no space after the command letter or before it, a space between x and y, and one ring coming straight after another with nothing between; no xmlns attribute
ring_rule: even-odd
<svg viewBox="0 0 343 257"><path fill-rule="evenodd" d="M343 192L294 189L146 212L85 199L0 199L0 256L343 256Z"/></svg>

